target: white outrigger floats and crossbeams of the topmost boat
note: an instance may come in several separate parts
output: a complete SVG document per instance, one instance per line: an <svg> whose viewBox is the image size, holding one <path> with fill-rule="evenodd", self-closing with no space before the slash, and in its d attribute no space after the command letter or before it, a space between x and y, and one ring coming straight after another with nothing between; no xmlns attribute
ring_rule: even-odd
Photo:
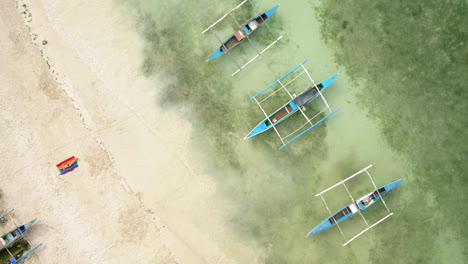
<svg viewBox="0 0 468 264"><path fill-rule="evenodd" d="M244 0L242 1L240 4L238 4L236 7L234 7L233 9L231 9L229 12L227 12L226 14L224 14L220 19L218 19L216 22L214 22L211 26L207 27L205 30L202 31L202 34L205 34L208 30L210 30L214 35L215 37L218 39L218 41L221 43L221 45L224 45L224 42L221 40L221 38L213 31L213 27L216 26L219 22L221 22L223 19L225 19L227 16L230 16L234 21L235 23L237 24L237 26L240 28L241 25L237 22L237 19L232 15L232 13L234 11L236 11L239 7L241 7L242 5L244 5L245 3L249 2L250 5L255 9L255 12L257 12L257 15L260 15L260 12L258 12L258 9L255 7L255 5L252 3L251 0ZM247 40L248 42L250 43L250 45L255 49L255 51L257 52L257 55L255 55L253 58L251 58L249 61L247 61L244 65L240 65L239 63L237 63L237 61L232 57L232 55L229 53L229 50L226 51L226 54L229 55L229 57L232 59L232 61L234 62L234 64L236 64L237 66L237 70L231 74L231 76L234 76L236 74L238 74L241 70L243 70L245 67L247 67L247 65L249 65L250 63L252 63L255 59L257 59L260 55L262 55L265 51L267 51L268 49L270 49L273 45L275 45L278 41L280 41L280 39L283 38L283 36L279 36L279 37L276 37L276 35L273 33L273 31L271 30L270 26L268 25L267 21L264 21L265 23L265 26L268 28L268 30L270 31L271 35L273 37L275 37L276 39L271 42L266 48L264 48L263 50L259 50L257 49L257 47L253 44L253 42L250 40L249 37L247 37Z"/></svg>

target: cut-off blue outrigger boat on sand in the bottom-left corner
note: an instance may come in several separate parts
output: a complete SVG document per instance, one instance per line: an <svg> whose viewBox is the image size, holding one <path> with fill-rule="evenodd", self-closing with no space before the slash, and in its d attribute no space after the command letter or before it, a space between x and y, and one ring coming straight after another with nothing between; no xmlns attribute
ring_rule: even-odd
<svg viewBox="0 0 468 264"><path fill-rule="evenodd" d="M19 263L20 261L24 260L26 257L28 257L31 253L33 253L35 250L37 250L39 247L42 246L42 243L32 247L31 243L24 237L24 234L36 223L37 218L29 221L28 223L18 226L16 225L15 220L13 219L14 214L12 213L13 209L6 212L5 214L0 216L0 220L4 219L6 216L10 218L10 220L15 224L16 228L13 229L12 231L8 232L7 234L3 235L0 237L0 251L6 250L8 254L10 255L9 263L15 264ZM24 240L27 242L28 247L32 249L28 250L24 254L18 255L18 253L23 252L24 249L20 246L20 251L18 252L11 252L11 248L13 248L14 245L18 245L18 243L21 243L20 240ZM18 243L17 243L18 242ZM14 249L17 250L16 246L14 246ZM3 260L3 259L2 259Z"/></svg>

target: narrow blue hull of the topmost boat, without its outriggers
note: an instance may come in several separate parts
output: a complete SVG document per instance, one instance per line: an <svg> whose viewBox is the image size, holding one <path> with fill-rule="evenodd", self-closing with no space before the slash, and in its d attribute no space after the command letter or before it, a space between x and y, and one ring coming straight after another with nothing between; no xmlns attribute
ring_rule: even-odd
<svg viewBox="0 0 468 264"><path fill-rule="evenodd" d="M226 40L221 45L221 47L219 47L219 49L217 49L213 55L208 58L208 60L212 60L218 56L223 55L235 46L239 45L239 43L241 43L243 40L247 39L255 30L265 24L265 22L275 13L278 7L279 5L247 21L244 25L241 26L239 31L234 33L228 40Z"/></svg>

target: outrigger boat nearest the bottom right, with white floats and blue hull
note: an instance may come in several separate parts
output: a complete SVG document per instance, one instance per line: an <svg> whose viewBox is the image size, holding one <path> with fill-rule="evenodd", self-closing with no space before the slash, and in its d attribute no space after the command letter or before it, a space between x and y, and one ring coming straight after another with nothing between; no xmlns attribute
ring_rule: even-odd
<svg viewBox="0 0 468 264"><path fill-rule="evenodd" d="M338 229L340 230L341 235L343 236L343 238L346 241L346 243L343 244L343 246L345 246L348 243L350 243L351 241L353 241L354 239L356 239L358 236L362 235L364 232L368 231L372 227L376 226L377 224L379 224L383 220L385 220L388 217L393 215L393 213L390 212L390 210L388 209L387 204L385 203L385 200L383 199L382 196L384 194L387 194L390 190L392 190L393 188L398 186L400 183L402 183L404 181L404 179L399 179L399 180L393 181L393 182L391 182L391 183L389 183L387 185L384 185L384 186L382 186L380 188L377 188L375 183L374 183L374 180L372 179L372 176L367 171L367 169L369 169L370 167L372 167L372 165L369 165L369 166L365 167L364 169L362 169L362 170L356 172L355 174L349 176L345 180L343 180L343 181L331 186L330 188L318 193L317 195L315 195L316 197L320 196L322 198L322 200L323 200L323 202L325 204L325 207L327 208L327 210L328 210L328 212L330 214L330 217L326 218L325 220L320 222L318 225L316 225L314 228L312 228L309 231L309 233L307 234L307 236L314 235L314 234L316 234L316 233L318 233L318 232L320 232L322 230L325 230L327 228L330 228L332 226L337 226ZM375 189L374 189L374 191L369 192L366 195L363 195L358 199L354 199L353 196L351 195L351 193L349 192L349 189L346 186L345 182L352 179L352 178L354 178L354 177L356 177L357 175L361 174L362 172L366 172L366 174L369 176L369 178L370 178L370 180L372 182L372 185L374 186ZM338 210L338 211L336 211L335 213L332 214L330 209L328 208L328 205L325 202L325 199L323 198L322 194L328 192L329 190L331 190L331 189L333 189L333 188L335 188L335 187L337 187L339 185L343 185L343 187L346 189L349 197L351 198L352 202L350 204L348 204L347 206L341 208L340 210ZM369 208L371 205L375 204L379 200L382 200L382 203L384 204L384 206L387 209L387 211L389 212L389 214L387 214L386 216L384 216L382 219L378 220L377 222L373 223L372 225L369 225L368 221L366 220L366 218L364 218L364 215L361 212L366 211L367 208ZM367 225L367 228L348 240L346 238L345 234L343 233L343 231L341 230L339 223L345 221L346 219L350 218L351 216L353 216L355 214L361 215L362 219L364 220L365 224Z"/></svg>

